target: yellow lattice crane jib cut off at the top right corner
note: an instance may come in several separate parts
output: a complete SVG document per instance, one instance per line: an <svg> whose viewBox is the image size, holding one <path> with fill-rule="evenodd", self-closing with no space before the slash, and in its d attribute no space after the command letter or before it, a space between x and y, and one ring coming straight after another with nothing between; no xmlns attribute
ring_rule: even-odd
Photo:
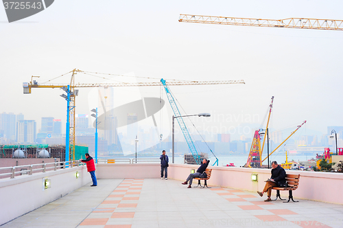
<svg viewBox="0 0 343 228"><path fill-rule="evenodd" d="M249 19L228 16L203 16L193 14L180 14L180 22L206 23L219 25L246 25L257 27L289 27L311 30L343 30L343 20L329 19Z"/></svg>

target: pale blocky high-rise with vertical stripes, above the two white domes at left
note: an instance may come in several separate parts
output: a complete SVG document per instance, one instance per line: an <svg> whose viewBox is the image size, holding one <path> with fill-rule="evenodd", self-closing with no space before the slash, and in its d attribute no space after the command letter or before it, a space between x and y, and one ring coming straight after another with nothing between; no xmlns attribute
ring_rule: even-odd
<svg viewBox="0 0 343 228"><path fill-rule="evenodd" d="M36 121L19 120L16 122L16 141L21 143L36 143Z"/></svg>

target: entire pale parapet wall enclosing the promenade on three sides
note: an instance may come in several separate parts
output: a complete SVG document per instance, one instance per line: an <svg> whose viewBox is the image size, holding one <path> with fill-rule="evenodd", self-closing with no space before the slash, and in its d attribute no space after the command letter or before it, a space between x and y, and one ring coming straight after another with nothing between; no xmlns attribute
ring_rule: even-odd
<svg viewBox="0 0 343 228"><path fill-rule="evenodd" d="M197 170L198 167L169 164L168 178L179 180L181 185L191 173L191 169ZM264 181L270 177L268 169L219 166L209 166L209 168L213 169L211 179L207 182L210 186L255 192L263 190ZM78 179L75 175L77 171L80 173ZM286 172L300 174L299 187L293 193L294 198L343 205L343 198L340 196L343 188L342 173L294 170L286 170ZM252 181L251 174L258 174L258 181ZM96 175L97 179L160 178L161 166L156 163L97 164ZM43 188L44 179L51 180L51 187L47 190ZM14 179L0 179L0 225L55 201L86 183L91 183L91 176L86 166L16 176ZM196 181L193 184L196 185ZM287 198L288 191L281 191L281 196Z"/></svg>

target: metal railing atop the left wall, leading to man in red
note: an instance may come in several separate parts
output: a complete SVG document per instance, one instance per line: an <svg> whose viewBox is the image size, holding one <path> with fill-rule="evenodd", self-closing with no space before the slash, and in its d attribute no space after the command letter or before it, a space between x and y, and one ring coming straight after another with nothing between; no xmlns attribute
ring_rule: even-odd
<svg viewBox="0 0 343 228"><path fill-rule="evenodd" d="M72 168L75 166L84 166L85 163L80 161L60 161L60 162L51 162L51 163L39 163L39 164L31 164L31 165L23 165L23 166L13 166L13 167L3 167L0 168L0 178L1 176L8 177L10 176L11 179L14 176L19 176L23 174L32 175L33 173L37 172L46 172L47 170L58 170L58 169L65 169L65 168ZM35 166L41 166L40 168L34 168ZM21 170L18 170L21 168ZM25 168L23 170L23 168ZM9 170L2 172L3 170Z"/></svg>

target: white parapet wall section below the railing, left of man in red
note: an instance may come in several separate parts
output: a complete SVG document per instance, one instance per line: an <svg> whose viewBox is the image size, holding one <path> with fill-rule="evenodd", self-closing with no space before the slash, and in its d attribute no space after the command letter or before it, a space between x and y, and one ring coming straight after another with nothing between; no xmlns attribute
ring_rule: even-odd
<svg viewBox="0 0 343 228"><path fill-rule="evenodd" d="M80 174L76 178L76 172ZM44 180L50 187L44 188ZM86 166L0 179L0 226L91 182Z"/></svg>

